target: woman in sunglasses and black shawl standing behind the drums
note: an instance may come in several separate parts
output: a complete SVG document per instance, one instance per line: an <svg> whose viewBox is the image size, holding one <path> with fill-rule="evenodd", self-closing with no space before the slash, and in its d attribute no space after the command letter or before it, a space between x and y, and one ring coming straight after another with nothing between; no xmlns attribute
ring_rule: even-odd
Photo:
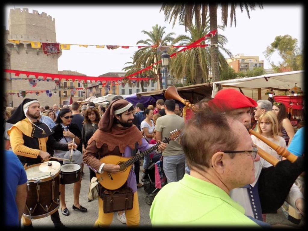
<svg viewBox="0 0 308 231"><path fill-rule="evenodd" d="M72 112L69 108L63 108L57 117L56 123L57 125L53 128L54 130L54 138L59 143L71 143L73 139L75 139L75 143L78 145L77 150L82 152L82 144L81 144L81 132L77 126L77 124L71 123ZM63 158L66 151L54 150L53 156ZM61 165L63 161L58 160ZM79 181L74 183L73 194L74 194L74 202L72 208L75 210L79 210L80 212L87 212L87 209L79 204L79 194L81 188L81 178ZM63 215L70 215L69 210L67 209L65 203L65 184L60 184L60 203L61 203L61 212Z"/></svg>

